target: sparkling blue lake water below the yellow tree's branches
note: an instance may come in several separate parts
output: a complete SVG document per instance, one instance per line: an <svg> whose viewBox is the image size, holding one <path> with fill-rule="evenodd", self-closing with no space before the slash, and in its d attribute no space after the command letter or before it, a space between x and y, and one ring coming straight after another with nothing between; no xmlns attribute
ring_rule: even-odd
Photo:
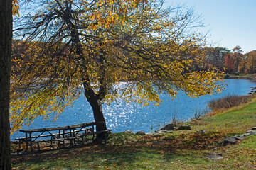
<svg viewBox="0 0 256 170"><path fill-rule="evenodd" d="M210 100L228 95L246 95L250 92L250 88L255 86L254 82L245 79L226 79L225 81L228 86L221 94L189 98L181 91L174 100L171 100L167 94L161 94L160 98L163 102L160 106L142 106L137 103L126 103L121 99L117 99L110 106L103 104L107 128L112 129L112 132L123 132L124 130L150 132L161 128L174 117L178 120L193 118L196 111L208 109L206 105ZM90 104L81 95L73 107L67 108L58 120L55 122L50 120L43 121L43 118L36 118L30 127L23 126L23 130L75 125L94 121L94 118ZM11 135L11 140L23 137L23 135L23 132L14 132Z"/></svg>

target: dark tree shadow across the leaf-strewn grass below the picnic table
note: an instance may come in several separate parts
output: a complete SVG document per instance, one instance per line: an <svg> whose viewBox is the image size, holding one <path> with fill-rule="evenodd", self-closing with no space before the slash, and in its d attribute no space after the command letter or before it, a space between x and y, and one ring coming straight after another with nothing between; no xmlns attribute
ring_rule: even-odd
<svg viewBox="0 0 256 170"><path fill-rule="evenodd" d="M58 149L41 152L30 152L13 156L13 165L26 167L75 167L90 166L92 168L114 166L129 166L137 169L138 162L151 160L156 164L171 161L184 153L195 150L213 149L220 145L224 133L184 133L174 135L132 135L117 133L110 135L106 145L86 145L71 149ZM159 163L160 162L160 163ZM143 167L141 167L143 168ZM22 169L22 168L21 168Z"/></svg>

